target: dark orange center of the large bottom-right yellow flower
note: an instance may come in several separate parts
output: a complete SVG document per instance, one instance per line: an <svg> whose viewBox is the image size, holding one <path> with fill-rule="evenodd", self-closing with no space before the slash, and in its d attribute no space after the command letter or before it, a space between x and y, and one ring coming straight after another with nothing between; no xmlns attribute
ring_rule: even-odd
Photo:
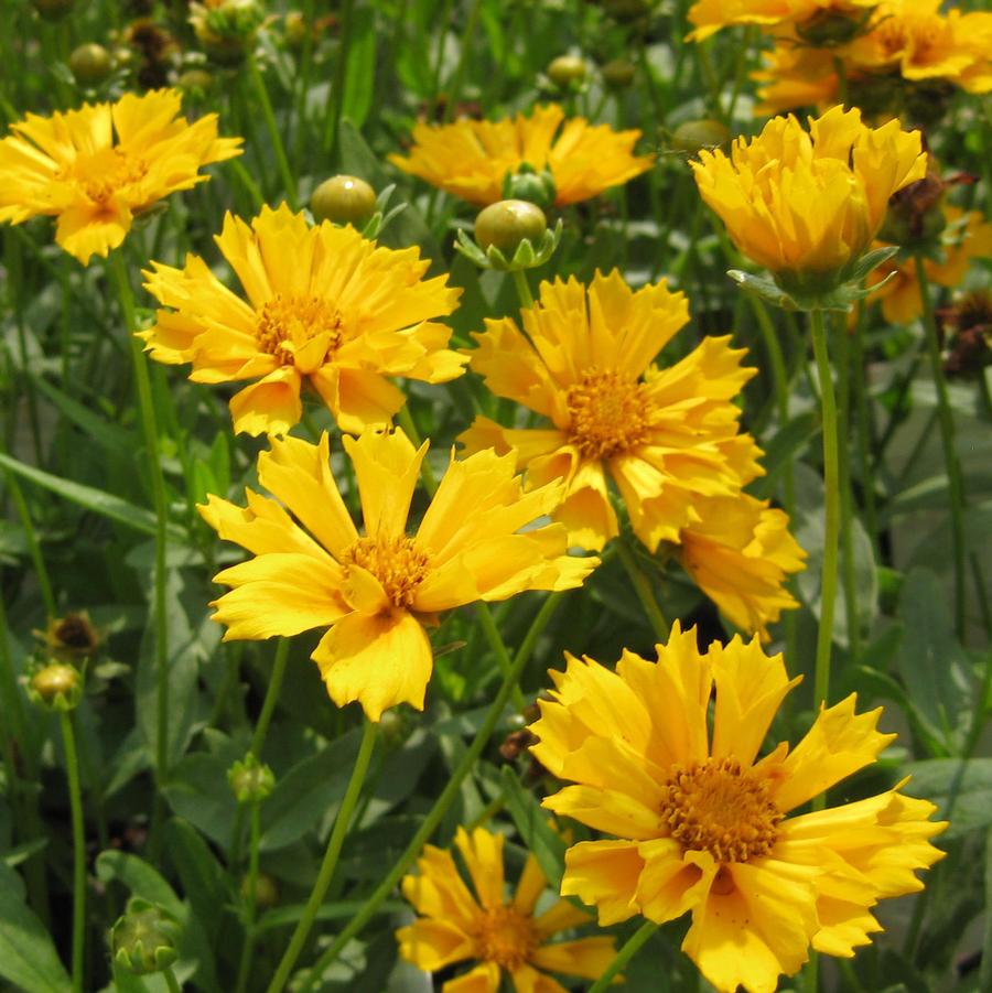
<svg viewBox="0 0 992 993"><path fill-rule="evenodd" d="M768 785L734 758L675 766L665 784L661 816L683 850L707 851L718 862L765 855L778 838L783 813Z"/></svg>

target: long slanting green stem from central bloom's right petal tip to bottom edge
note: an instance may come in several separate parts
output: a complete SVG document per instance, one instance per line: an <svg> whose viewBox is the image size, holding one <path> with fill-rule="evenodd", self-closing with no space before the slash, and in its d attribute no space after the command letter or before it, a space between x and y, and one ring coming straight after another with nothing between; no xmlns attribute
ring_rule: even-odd
<svg viewBox="0 0 992 993"><path fill-rule="evenodd" d="M478 756L482 755L483 748L485 748L488 743L496 724L503 715L503 710L510 699L513 688L517 684L520 673L524 671L524 667L527 665L531 651L533 651L538 637L540 637L541 632L551 619L551 615L554 613L558 604L561 603L562 596L562 593L552 593L541 605L541 609L538 611L537 617L535 617L533 623L530 625L530 630L528 630L524 641L520 644L520 648L517 650L517 655L514 657L513 669L510 669L504 678L503 686L500 686L499 692L496 694L496 699L493 701L493 705L489 708L485 721L483 721L482 726L476 732L468 749L462 756L462 760L455 766L454 771L451 774L451 778L448 780L448 786L444 787L441 796L434 801L434 806L423 819L423 823L417 830L413 838L410 839L410 843L403 850L402 855L399 856L382 882L379 883L371 896L365 900L362 908L351 919L345 929L331 942L330 947L311 968L300 993L306 993L306 991L313 989L314 983L323 974L324 970L337 958L342 949L375 916L379 906L389 894L392 893L397 883L399 883L400 877L420 854L424 843L430 839L431 834L434 833L438 824L441 823L441 819L448 813L448 808L451 807L452 801L462 788L462 781L468 773L472 771Z"/></svg>

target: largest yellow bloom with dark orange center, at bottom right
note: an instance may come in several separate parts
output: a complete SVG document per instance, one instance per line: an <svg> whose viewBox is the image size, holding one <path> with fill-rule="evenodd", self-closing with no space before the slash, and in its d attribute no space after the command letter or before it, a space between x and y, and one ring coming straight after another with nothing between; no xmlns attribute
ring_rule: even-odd
<svg viewBox="0 0 992 993"><path fill-rule="evenodd" d="M657 654L625 651L615 672L569 657L539 701L531 751L575 784L544 806L613 835L569 849L562 895L595 904L603 926L690 913L682 950L721 993L773 993L810 946L852 956L882 930L880 899L923 888L915 871L941 857L929 839L946 827L903 784L792 813L875 762L895 737L876 730L881 709L858 714L852 694L821 708L794 749L758 759L799 681L781 656L740 638L703 655L678 625Z"/></svg>

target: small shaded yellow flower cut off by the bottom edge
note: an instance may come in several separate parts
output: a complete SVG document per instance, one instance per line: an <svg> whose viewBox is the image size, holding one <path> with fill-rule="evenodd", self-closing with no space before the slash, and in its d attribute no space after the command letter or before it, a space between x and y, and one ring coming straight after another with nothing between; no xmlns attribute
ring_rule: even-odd
<svg viewBox="0 0 992 993"><path fill-rule="evenodd" d="M403 896L422 915L396 932L400 954L425 972L454 962L478 960L443 993L497 993L506 972L517 993L565 993L564 987L538 970L597 979L613 961L614 939L600 936L548 943L567 928L586 924L590 915L558 900L535 915L548 881L537 859L528 854L516 895L504 895L503 835L476 828L459 828L457 848L474 893L465 885L451 852L424 845L419 875L403 878Z"/></svg>

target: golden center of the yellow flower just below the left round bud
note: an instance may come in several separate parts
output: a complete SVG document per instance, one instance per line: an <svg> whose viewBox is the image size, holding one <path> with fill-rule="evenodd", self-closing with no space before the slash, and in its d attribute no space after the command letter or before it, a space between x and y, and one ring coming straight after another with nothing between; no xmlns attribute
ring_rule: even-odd
<svg viewBox="0 0 992 993"><path fill-rule="evenodd" d="M322 296L277 293L259 311L255 337L282 365L313 373L341 345L341 312Z"/></svg>

